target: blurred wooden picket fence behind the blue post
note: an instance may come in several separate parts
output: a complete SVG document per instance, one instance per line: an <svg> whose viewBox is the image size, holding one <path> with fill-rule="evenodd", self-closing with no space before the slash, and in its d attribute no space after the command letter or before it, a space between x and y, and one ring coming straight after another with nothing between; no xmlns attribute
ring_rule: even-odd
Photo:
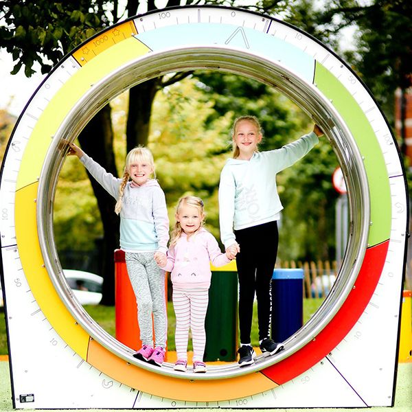
<svg viewBox="0 0 412 412"><path fill-rule="evenodd" d="M325 297L330 292L337 274L336 261L295 262L277 260L275 268L302 268L304 270L304 297Z"/></svg>

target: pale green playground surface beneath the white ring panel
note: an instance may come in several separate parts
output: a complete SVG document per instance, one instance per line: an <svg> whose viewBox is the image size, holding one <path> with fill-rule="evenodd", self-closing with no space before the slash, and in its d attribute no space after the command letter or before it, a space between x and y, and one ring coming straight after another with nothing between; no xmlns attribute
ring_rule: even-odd
<svg viewBox="0 0 412 412"><path fill-rule="evenodd" d="M0 357L0 411L14 411L12 409L12 391L10 387L10 372L9 372L9 365L7 356ZM313 408L313 409L271 409L272 411L279 411L279 412L314 412L314 411L322 411L322 412L339 412L339 411L349 411L349 412L356 412L356 411L365 411L366 408L351 408L351 409L344 409L344 408ZM28 409L25 409L26 411ZM45 409L42 409L45 411ZM186 409L190 411L190 409ZM209 411L210 409L204 409L205 411ZM219 409L214 409L218 411ZM250 409L249 409L250 410ZM53 409L53 411L67 411L67 409ZM81 411L98 411L98 409L76 409L76 412ZM100 409L102 411L102 409ZM111 411L109 409L104 409L104 411ZM124 409L114 409L115 412L122 412ZM130 409L126 409L126 411L130 411ZM161 411L159 409L159 411ZM164 409L163 409L164 411ZM172 411L172 410L170 410ZM192 409L195 411L195 409ZM200 411L200 409L196 409L196 411ZM264 409L258 409L258 411L264 411ZM367 411L370 412L412 412L412 363L400 363L398 365L398 378L396 382L396 396L395 396L395 405L393 408L386 408L386 407L372 407L367 408Z"/></svg>

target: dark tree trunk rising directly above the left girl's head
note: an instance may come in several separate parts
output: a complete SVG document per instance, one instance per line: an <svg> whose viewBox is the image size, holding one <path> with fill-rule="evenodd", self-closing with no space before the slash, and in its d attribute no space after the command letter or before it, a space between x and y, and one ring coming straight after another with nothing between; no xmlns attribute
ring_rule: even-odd
<svg viewBox="0 0 412 412"><path fill-rule="evenodd" d="M136 146L147 146L152 104L159 90L160 78L137 84L129 90L126 125L127 152Z"/></svg>

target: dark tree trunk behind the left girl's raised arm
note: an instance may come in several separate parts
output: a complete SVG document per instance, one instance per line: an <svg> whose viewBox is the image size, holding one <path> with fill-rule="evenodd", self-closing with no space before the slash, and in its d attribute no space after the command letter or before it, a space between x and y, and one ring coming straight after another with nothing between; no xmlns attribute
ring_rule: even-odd
<svg viewBox="0 0 412 412"><path fill-rule="evenodd" d="M107 172L117 176L115 156L113 153L113 129L111 125L111 108L105 106L91 119L79 135L84 152L97 161ZM119 217L115 214L115 199L89 175L93 192L98 201L103 225L103 239L99 242L100 275L103 282L101 304L115 304L115 264L113 253L119 247Z"/></svg>

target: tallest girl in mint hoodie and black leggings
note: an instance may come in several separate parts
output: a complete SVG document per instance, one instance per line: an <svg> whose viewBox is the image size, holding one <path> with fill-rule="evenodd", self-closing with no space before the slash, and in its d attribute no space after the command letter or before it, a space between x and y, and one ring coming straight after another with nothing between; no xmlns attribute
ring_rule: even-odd
<svg viewBox="0 0 412 412"><path fill-rule="evenodd" d="M277 256L277 220L283 209L277 194L276 174L304 157L323 135L315 125L312 133L277 150L259 152L262 140L254 116L238 117L233 124L233 159L220 174L220 237L234 258L239 279L239 365L254 362L251 347L253 300L258 298L260 349L264 356L283 349L269 335L271 326L271 279ZM231 250L235 249L235 253Z"/></svg>

